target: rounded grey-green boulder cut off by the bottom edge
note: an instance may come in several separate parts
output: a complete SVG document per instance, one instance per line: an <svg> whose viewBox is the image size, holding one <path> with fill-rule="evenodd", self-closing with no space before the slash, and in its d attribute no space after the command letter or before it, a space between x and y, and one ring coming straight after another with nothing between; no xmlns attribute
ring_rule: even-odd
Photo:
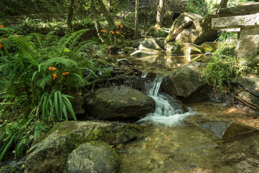
<svg viewBox="0 0 259 173"><path fill-rule="evenodd" d="M64 173L119 172L116 152L104 142L91 141L77 147L69 156Z"/></svg>

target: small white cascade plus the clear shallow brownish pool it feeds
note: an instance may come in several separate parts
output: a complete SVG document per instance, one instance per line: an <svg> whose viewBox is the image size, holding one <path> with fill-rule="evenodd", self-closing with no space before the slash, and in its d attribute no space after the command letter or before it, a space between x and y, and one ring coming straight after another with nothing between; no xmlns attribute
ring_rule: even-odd
<svg viewBox="0 0 259 173"><path fill-rule="evenodd" d="M149 96L155 112L137 123L149 130L119 149L121 172L259 172L259 133L220 140L204 129L183 123L191 115L243 123L258 129L259 121L232 105L212 102L188 104L159 92L163 77L157 77Z"/></svg>

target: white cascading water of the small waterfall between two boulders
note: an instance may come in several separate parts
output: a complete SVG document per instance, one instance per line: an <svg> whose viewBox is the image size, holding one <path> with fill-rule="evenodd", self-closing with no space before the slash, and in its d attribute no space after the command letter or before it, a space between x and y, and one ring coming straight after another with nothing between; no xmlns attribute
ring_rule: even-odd
<svg viewBox="0 0 259 173"><path fill-rule="evenodd" d="M172 126L173 124L178 124L185 117L194 115L194 112L187 108L178 99L159 92L162 81L163 77L157 76L148 93L148 96L152 97L156 103L155 111L136 123L147 124L151 122L152 124L165 124L167 126Z"/></svg>

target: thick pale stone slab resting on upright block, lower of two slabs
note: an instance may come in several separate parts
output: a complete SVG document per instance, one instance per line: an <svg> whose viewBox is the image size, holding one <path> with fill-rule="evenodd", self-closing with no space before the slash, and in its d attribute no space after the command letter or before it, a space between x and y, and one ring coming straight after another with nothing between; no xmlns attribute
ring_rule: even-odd
<svg viewBox="0 0 259 173"><path fill-rule="evenodd" d="M259 27L259 13L245 16L213 18L211 20L211 28L213 30L248 27Z"/></svg>

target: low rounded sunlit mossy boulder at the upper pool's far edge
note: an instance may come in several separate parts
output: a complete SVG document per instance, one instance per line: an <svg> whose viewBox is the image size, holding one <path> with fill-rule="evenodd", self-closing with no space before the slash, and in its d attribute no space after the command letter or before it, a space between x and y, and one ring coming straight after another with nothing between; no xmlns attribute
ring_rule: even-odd
<svg viewBox="0 0 259 173"><path fill-rule="evenodd" d="M175 44L169 42L164 46L168 55L195 55L205 53L204 48L193 43Z"/></svg>

